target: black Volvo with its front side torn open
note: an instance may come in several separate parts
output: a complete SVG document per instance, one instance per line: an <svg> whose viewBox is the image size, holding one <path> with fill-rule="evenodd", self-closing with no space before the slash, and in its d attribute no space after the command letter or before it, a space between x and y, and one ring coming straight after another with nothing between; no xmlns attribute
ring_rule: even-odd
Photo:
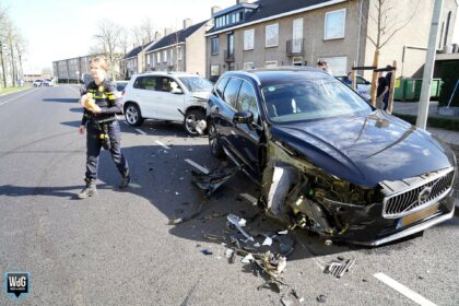
<svg viewBox="0 0 459 306"><path fill-rule="evenodd" d="M212 155L261 186L267 213L377 246L454 215L452 151L314 68L231 71L207 109Z"/></svg>

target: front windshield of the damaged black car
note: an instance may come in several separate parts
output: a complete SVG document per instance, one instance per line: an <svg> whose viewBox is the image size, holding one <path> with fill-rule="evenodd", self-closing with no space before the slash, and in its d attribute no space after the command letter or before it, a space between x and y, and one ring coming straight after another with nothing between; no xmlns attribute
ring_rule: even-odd
<svg viewBox="0 0 459 306"><path fill-rule="evenodd" d="M336 80L293 80L261 89L268 116L273 122L293 122L352 116L372 111L356 93Z"/></svg>

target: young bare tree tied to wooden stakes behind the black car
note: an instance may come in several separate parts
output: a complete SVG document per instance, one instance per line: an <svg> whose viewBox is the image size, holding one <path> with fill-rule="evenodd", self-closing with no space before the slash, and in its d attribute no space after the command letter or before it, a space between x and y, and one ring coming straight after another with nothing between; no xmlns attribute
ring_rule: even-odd
<svg viewBox="0 0 459 306"><path fill-rule="evenodd" d="M368 7L368 24L376 26L376 32L367 32L367 38L375 47L375 55L373 58L373 66L378 67L379 52L385 45L387 45L397 33L404 28L417 13L417 8L421 1L414 1L415 5L409 16L401 17L399 15L400 10L397 7L400 5L400 0L374 0L365 1L364 3L373 2L373 7ZM410 2L411 3L411 2ZM377 86L377 73L373 73L372 78L372 104L376 104L376 86Z"/></svg>

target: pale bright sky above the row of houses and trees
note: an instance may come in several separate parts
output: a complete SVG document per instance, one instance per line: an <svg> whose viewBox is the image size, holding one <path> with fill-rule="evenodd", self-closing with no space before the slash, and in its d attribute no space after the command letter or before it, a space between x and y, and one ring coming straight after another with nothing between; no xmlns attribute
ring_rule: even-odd
<svg viewBox="0 0 459 306"><path fill-rule="evenodd" d="M24 73L40 73L52 61L85 56L95 44L97 24L111 20L131 28L151 19L158 31L181 28L190 17L211 17L211 7L227 8L236 0L0 0L26 40ZM454 40L459 43L459 22Z"/></svg>

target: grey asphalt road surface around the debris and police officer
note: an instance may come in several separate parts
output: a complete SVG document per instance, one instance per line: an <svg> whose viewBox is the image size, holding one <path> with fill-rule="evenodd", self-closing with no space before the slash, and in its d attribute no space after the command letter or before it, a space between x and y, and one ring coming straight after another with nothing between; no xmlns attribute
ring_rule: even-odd
<svg viewBox="0 0 459 306"><path fill-rule="evenodd" d="M131 188L117 190L119 174L103 152L98 197L75 200L85 163L76 98L72 86L0 96L0 275L31 275L28 295L17 302L2 289L0 305L282 305L292 289L301 305L459 305L457 217L378 248L326 246L289 232L289 286L257 290L263 279L240 256L225 258L226 215L245 217L252 234L283 228L240 196L258 192L244 175L204 198L186 160L207 168L220 162L207 138L189 138L180 125L121 122ZM341 279L323 273L338 257L355 259Z"/></svg>

